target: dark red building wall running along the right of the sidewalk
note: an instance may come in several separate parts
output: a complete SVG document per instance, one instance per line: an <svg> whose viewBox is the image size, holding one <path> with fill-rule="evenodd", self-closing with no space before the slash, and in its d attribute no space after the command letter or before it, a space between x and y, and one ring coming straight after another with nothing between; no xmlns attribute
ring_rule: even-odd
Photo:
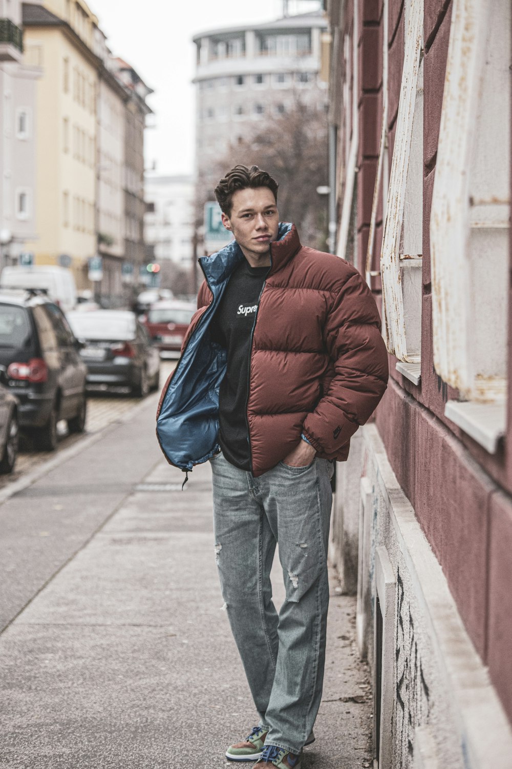
<svg viewBox="0 0 512 769"><path fill-rule="evenodd" d="M382 2L358 0L358 268L364 272L382 117ZM348 6L350 3L347 4ZM448 388L434 371L430 212L437 161L451 0L424 2L424 228L421 384L396 371L376 421L398 481L411 500L475 647L512 720L512 452L491 456L444 417ZM404 0L388 3L389 161L404 59ZM381 216L382 219L382 216ZM382 227L374 251L380 253ZM512 276L512 249L510 254ZM511 278L512 280L512 278ZM512 297L512 283L510 288ZM510 302L512 338L512 301ZM512 355L509 358L512 381ZM512 424L512 398L509 398Z"/></svg>

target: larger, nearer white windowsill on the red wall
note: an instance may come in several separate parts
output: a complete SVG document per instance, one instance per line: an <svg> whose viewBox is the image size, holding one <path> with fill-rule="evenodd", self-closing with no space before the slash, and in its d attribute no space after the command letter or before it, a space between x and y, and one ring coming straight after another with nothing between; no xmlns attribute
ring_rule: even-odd
<svg viewBox="0 0 512 769"><path fill-rule="evenodd" d="M507 428L505 401L476 403L474 401L448 401L444 416L464 430L489 454L496 454L500 438Z"/></svg>

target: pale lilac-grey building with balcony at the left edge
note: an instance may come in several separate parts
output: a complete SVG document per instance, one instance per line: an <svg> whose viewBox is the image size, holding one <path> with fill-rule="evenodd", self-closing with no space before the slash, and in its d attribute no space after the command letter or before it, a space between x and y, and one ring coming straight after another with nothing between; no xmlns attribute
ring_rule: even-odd
<svg viewBox="0 0 512 769"><path fill-rule="evenodd" d="M0 2L0 268L35 237L38 62L24 53L21 2Z"/></svg>

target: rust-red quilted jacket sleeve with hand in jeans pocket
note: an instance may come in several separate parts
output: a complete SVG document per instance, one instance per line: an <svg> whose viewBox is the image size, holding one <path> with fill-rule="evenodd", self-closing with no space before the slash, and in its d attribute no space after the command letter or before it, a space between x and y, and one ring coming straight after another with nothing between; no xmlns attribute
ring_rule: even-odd
<svg viewBox="0 0 512 769"><path fill-rule="evenodd" d="M325 345L335 373L303 432L322 454L338 454L371 417L388 381L388 353L372 292L355 268L332 301Z"/></svg>

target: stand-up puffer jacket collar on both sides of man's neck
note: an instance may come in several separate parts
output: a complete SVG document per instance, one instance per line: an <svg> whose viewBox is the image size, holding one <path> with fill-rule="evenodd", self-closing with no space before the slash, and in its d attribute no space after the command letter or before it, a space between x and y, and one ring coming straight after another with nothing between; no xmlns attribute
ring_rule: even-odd
<svg viewBox="0 0 512 769"><path fill-rule="evenodd" d="M295 225L289 222L281 222L277 232L277 240L270 245L272 267L270 274L280 270L296 255L300 248L299 233ZM216 251L211 256L201 256L199 262L206 275L206 279L213 289L223 284L230 277L236 265L243 259L242 249L236 241Z"/></svg>

